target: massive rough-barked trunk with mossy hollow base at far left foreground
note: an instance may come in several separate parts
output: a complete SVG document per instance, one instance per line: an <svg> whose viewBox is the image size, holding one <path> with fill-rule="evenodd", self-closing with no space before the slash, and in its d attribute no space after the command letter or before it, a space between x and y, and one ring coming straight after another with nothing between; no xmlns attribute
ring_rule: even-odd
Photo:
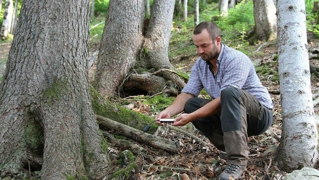
<svg viewBox="0 0 319 180"><path fill-rule="evenodd" d="M89 0L23 1L0 84L0 172L101 178L107 155L91 106Z"/></svg>

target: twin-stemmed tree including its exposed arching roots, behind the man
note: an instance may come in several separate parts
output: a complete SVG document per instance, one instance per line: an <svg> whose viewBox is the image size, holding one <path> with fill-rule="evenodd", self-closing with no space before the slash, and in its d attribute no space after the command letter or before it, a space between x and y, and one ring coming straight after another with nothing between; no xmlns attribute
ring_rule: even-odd
<svg viewBox="0 0 319 180"><path fill-rule="evenodd" d="M156 94L166 87L177 94L176 86L184 82L171 71L175 68L168 58L174 4L175 0L154 1L143 29L144 0L110 1L95 74L102 95L114 96L121 89Z"/></svg>

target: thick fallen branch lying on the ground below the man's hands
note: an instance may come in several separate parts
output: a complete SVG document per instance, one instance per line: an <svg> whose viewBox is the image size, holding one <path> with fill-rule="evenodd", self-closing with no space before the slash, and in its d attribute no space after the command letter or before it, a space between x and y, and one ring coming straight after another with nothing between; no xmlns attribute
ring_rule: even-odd
<svg viewBox="0 0 319 180"><path fill-rule="evenodd" d="M113 129L121 135L130 138L134 141L152 146L157 149L165 150L172 154L176 154L178 151L175 142L171 140L162 137L157 137L149 133L144 133L144 131L113 121L103 116L95 115L95 117L98 121L100 128L102 129Z"/></svg>

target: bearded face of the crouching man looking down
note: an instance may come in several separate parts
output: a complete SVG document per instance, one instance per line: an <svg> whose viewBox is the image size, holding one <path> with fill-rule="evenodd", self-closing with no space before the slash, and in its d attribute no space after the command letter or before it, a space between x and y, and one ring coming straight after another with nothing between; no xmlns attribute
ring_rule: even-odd
<svg viewBox="0 0 319 180"><path fill-rule="evenodd" d="M200 55L204 61L218 58L217 41L211 39L207 29L204 29L200 34L193 34L193 41L197 48L198 55Z"/></svg>

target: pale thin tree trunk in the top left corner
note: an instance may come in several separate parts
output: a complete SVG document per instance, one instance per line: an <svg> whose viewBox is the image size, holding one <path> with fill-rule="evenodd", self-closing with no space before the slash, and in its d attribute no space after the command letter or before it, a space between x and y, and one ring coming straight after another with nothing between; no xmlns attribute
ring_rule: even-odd
<svg viewBox="0 0 319 180"><path fill-rule="evenodd" d="M1 27L0 36L4 40L8 38L8 34L11 33L11 24L13 16L13 1L7 0L5 4L4 20Z"/></svg>

